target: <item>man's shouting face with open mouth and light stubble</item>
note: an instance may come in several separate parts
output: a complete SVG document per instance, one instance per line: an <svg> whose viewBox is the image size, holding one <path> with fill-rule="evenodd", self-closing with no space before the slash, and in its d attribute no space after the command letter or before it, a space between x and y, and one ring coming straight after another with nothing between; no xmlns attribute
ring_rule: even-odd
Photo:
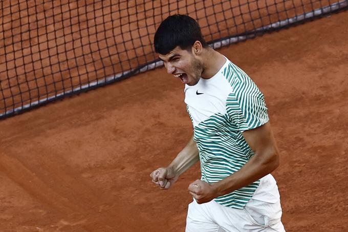
<svg viewBox="0 0 348 232"><path fill-rule="evenodd" d="M196 58L191 51L176 47L166 55L159 55L163 60L168 74L172 74L189 86L194 86L201 78L204 70L202 61Z"/></svg>

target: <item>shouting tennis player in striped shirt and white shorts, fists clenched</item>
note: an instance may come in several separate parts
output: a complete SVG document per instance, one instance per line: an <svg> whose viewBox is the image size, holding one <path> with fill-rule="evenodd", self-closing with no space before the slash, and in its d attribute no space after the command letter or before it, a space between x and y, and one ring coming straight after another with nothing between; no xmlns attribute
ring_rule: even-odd
<svg viewBox="0 0 348 232"><path fill-rule="evenodd" d="M285 231L276 181L279 165L264 95L250 77L210 48L186 15L166 18L155 50L185 84L193 136L167 166L150 174L168 189L200 160L201 179L188 186L186 232Z"/></svg>

